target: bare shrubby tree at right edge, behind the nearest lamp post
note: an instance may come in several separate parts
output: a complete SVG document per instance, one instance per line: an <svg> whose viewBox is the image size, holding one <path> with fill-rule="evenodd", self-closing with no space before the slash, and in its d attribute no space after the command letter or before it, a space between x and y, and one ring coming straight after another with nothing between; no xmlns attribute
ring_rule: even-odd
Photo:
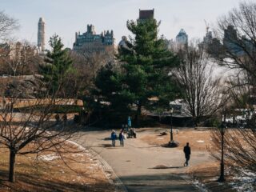
<svg viewBox="0 0 256 192"><path fill-rule="evenodd" d="M230 105L223 109L223 121L233 128L225 132L225 158L229 166L240 173L256 172L256 111L254 108L255 86L248 83L246 74L231 78L226 94L230 95ZM220 158L221 135L218 129L212 130L213 148L210 153Z"/></svg>

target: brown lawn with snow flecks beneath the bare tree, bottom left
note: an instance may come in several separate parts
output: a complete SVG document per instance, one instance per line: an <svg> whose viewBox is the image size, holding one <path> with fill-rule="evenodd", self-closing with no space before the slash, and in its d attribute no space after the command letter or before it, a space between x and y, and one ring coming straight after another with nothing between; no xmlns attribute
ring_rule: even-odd
<svg viewBox="0 0 256 192"><path fill-rule="evenodd" d="M65 143L71 148L78 148ZM33 146L29 146L33 147ZM78 150L77 150L78 151ZM0 148L0 191L114 191L102 165L88 150L62 154L54 152L18 155L16 182L7 182L9 151ZM36 161L38 159L38 161ZM75 161L74 161L75 160ZM70 166L70 168L68 167Z"/></svg>

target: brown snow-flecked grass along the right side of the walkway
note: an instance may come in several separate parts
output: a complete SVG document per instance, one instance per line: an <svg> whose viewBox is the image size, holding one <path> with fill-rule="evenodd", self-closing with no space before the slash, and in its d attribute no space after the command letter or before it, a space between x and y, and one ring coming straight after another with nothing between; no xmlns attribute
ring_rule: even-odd
<svg viewBox="0 0 256 192"><path fill-rule="evenodd" d="M170 130L166 130L166 135L161 135L164 129L154 130L152 134L145 134L140 139L154 146L165 146L170 142ZM192 151L202 151L209 153L211 148L210 129L207 128L179 128L174 129L174 141L179 142L178 150L183 150L186 142L190 142ZM218 182L220 175L220 162L212 159L210 162L205 162L196 166L189 166L186 174L193 178L194 185L206 187L209 191L255 191L255 183L250 182L250 178L238 175L230 166L225 167L226 182ZM251 190L254 189L254 190Z"/></svg>

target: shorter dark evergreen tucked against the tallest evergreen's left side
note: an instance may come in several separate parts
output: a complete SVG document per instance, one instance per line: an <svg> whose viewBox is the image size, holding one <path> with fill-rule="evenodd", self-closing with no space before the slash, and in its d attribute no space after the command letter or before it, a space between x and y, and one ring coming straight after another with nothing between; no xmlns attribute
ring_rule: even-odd
<svg viewBox="0 0 256 192"><path fill-rule="evenodd" d="M118 67L113 63L108 63L98 70L98 74L94 79L95 88L91 91L95 100L92 98L90 104L94 103L94 110L106 111L108 118L124 118L128 115L130 108L129 103L133 98L129 94L124 93L122 88L122 75L118 71ZM90 105L89 104L89 105Z"/></svg>

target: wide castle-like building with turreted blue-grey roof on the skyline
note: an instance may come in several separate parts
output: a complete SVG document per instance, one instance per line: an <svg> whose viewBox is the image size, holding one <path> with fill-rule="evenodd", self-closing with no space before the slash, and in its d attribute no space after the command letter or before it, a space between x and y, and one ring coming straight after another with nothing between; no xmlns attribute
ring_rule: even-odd
<svg viewBox="0 0 256 192"><path fill-rule="evenodd" d="M83 34L75 33L73 50L86 51L87 53L102 52L105 50L114 51L113 30L96 34L93 25L87 25L87 31Z"/></svg>

